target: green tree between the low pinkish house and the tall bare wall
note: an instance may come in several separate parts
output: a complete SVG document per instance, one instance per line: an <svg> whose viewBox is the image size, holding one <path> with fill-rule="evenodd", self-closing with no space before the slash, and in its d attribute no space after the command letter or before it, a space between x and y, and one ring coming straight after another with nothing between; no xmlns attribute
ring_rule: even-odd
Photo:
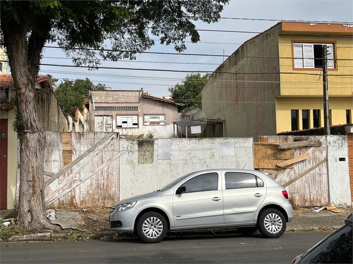
<svg viewBox="0 0 353 264"><path fill-rule="evenodd" d="M181 84L169 87L171 98L185 105L184 108L201 108L201 90L208 79L208 75L200 73L188 74Z"/></svg>

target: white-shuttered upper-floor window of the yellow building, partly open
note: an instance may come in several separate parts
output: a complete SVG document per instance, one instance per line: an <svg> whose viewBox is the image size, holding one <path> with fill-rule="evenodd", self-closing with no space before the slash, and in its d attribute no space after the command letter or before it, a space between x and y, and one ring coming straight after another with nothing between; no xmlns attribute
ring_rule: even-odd
<svg viewBox="0 0 353 264"><path fill-rule="evenodd" d="M322 43L294 43L294 68L322 68ZM327 68L334 69L334 46L327 43Z"/></svg>

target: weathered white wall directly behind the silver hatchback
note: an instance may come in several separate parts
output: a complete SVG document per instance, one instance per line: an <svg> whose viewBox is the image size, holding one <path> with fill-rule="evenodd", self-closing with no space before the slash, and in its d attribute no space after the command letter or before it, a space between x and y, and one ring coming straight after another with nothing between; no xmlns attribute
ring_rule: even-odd
<svg viewBox="0 0 353 264"><path fill-rule="evenodd" d="M218 168L253 169L252 138L173 138L171 159L159 159L154 141L151 164L138 164L138 140L120 139L120 200L157 190L193 171ZM219 156L218 143L234 143L234 156Z"/></svg>

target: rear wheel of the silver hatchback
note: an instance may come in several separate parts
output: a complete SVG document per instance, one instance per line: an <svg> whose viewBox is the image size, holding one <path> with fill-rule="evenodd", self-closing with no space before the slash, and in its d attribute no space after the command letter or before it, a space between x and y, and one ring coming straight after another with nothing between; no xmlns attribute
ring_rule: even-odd
<svg viewBox="0 0 353 264"><path fill-rule="evenodd" d="M286 231L286 226L284 215L277 209L265 209L258 217L258 230L263 236L268 238L280 237Z"/></svg>

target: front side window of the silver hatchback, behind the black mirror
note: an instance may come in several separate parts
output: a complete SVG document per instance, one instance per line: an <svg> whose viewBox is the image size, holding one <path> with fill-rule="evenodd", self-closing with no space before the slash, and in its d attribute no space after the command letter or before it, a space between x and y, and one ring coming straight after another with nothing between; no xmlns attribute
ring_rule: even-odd
<svg viewBox="0 0 353 264"><path fill-rule="evenodd" d="M187 181L183 186L186 187L187 192L196 191L207 191L207 190L217 190L218 189L218 174L206 173L194 177L193 179Z"/></svg>

